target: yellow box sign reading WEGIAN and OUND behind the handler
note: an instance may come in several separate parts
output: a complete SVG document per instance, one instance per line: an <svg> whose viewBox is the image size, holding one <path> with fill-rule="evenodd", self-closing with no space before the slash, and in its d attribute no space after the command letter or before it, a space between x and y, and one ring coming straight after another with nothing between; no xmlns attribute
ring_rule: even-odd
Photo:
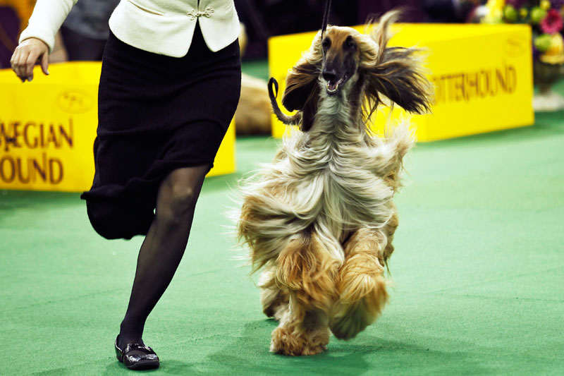
<svg viewBox="0 0 564 376"><path fill-rule="evenodd" d="M0 188L90 189L100 63L36 67L32 83L0 71ZM208 176L235 171L233 123Z"/></svg>

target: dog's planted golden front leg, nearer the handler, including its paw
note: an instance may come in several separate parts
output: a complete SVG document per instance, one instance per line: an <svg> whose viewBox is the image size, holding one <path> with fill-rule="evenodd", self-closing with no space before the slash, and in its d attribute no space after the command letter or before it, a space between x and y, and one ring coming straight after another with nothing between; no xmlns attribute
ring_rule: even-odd
<svg viewBox="0 0 564 376"><path fill-rule="evenodd" d="M321 353L329 343L329 312L340 263L316 234L290 241L276 261L276 283L287 289L290 309L272 332L270 351L289 356Z"/></svg>

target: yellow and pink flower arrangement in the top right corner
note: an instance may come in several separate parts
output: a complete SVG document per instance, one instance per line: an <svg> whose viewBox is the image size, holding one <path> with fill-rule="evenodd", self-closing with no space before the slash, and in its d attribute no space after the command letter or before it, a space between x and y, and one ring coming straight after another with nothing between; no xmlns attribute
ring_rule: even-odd
<svg viewBox="0 0 564 376"><path fill-rule="evenodd" d="M488 0L484 23L527 23L533 30L533 57L564 63L564 0Z"/></svg>

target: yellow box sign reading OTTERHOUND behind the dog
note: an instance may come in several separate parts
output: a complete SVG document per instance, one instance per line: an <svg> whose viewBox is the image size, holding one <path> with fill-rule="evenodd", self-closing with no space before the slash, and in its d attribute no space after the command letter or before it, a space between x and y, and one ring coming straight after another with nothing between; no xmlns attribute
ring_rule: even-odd
<svg viewBox="0 0 564 376"><path fill-rule="evenodd" d="M357 26L360 32L364 26ZM391 46L427 50L435 87L432 114L416 115L417 140L432 141L534 123L531 29L527 25L398 24ZM270 75L285 88L286 74L309 49L314 32L272 37ZM278 101L281 95L278 95ZM281 104L281 102L279 102ZM281 106L282 108L282 106ZM399 116L401 111L394 110ZM376 115L384 125L386 111ZM272 134L286 131L273 115Z"/></svg>

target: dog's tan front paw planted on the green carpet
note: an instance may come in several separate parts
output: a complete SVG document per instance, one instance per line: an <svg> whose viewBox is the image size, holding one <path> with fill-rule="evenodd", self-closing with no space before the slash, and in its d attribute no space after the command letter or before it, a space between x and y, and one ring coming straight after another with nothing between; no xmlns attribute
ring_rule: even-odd
<svg viewBox="0 0 564 376"><path fill-rule="evenodd" d="M326 328L295 334L292 329L277 327L272 332L270 351L288 356L315 355L324 352L328 343Z"/></svg>

